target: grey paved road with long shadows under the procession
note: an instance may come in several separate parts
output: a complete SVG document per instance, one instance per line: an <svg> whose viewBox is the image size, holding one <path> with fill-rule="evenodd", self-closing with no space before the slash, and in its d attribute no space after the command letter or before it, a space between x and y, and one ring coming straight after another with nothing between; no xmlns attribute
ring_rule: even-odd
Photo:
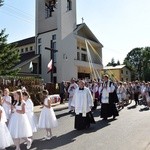
<svg viewBox="0 0 150 150"><path fill-rule="evenodd" d="M96 124L84 131L74 130L74 116L67 109L55 110L59 126L52 130L54 137L43 141L45 131L39 130L31 150L150 150L150 110L141 112L141 107L125 107L116 120L109 121L100 119L98 109Z"/></svg>

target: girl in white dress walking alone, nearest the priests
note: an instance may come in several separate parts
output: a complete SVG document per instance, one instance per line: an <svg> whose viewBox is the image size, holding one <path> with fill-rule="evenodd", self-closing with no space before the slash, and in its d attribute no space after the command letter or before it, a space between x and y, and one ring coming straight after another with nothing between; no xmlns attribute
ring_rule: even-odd
<svg viewBox="0 0 150 150"><path fill-rule="evenodd" d="M49 140L52 138L51 128L57 127L58 122L54 110L51 107L51 99L48 97L48 91L44 90L42 94L43 94L44 104L39 117L38 127L46 129L47 134L45 139Z"/></svg>

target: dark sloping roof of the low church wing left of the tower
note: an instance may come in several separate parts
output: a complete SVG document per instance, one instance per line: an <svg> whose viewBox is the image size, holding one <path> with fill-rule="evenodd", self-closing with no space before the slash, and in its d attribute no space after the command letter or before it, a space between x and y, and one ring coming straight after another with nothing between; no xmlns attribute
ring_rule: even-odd
<svg viewBox="0 0 150 150"><path fill-rule="evenodd" d="M34 44L34 43L35 43L35 36L30 37L30 38L26 38L23 40L15 41L11 44L17 44L17 47L20 47L20 46L24 46L24 45L28 45L28 44Z"/></svg>

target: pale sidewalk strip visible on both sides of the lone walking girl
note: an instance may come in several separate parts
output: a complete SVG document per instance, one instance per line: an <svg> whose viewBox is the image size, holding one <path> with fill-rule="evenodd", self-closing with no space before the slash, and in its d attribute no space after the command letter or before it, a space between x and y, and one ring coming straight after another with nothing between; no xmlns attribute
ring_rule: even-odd
<svg viewBox="0 0 150 150"><path fill-rule="evenodd" d="M64 104L60 104L60 102L57 102L57 103L52 104L52 107L53 107L54 111L55 110L67 109L68 108L68 102L65 102ZM42 109L41 105L34 106L34 112L35 113L40 112L41 109Z"/></svg>

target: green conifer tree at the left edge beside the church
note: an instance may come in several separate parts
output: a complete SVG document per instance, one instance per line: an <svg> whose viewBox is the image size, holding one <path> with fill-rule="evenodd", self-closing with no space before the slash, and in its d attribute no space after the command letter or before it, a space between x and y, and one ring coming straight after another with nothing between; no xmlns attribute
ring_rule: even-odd
<svg viewBox="0 0 150 150"><path fill-rule="evenodd" d="M16 45L7 44L5 30L0 32L0 75L16 75L19 70L13 70L19 62L19 53Z"/></svg>

